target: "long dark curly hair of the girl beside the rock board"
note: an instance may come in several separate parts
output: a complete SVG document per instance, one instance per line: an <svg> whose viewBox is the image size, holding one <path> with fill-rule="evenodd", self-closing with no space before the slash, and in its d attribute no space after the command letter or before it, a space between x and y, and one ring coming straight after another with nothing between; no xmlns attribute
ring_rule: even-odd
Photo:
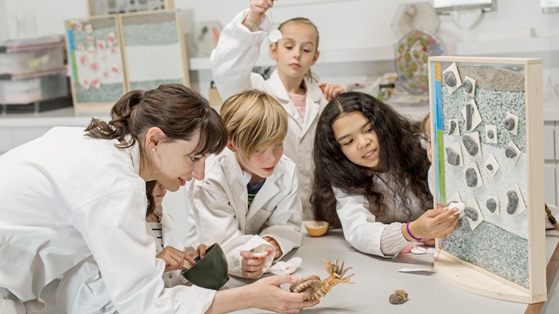
<svg viewBox="0 0 559 314"><path fill-rule="evenodd" d="M379 142L378 170L391 180L397 180L395 196L402 200L405 211L411 216L409 207L412 202L406 196L409 190L421 200L421 204L428 204L432 200L427 184L430 164L421 144L421 124L402 117L375 97L347 92L326 105L314 136L314 178L310 197L314 218L340 227L333 187L349 195L365 196L369 210L377 217L384 216L389 210L383 202L383 190L373 184L373 177L379 172L351 163L335 140L333 123L349 112L363 113L372 124Z"/></svg>

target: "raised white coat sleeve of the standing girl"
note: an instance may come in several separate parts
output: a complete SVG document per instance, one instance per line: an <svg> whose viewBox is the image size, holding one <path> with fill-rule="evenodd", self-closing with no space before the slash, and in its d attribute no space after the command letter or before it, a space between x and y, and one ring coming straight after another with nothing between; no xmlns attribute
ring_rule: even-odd
<svg viewBox="0 0 559 314"><path fill-rule="evenodd" d="M224 27L217 47L212 51L212 75L222 98L228 98L245 89L264 89L264 79L252 68L260 57L262 41L273 29L267 18L259 23L261 31L249 31L243 22L249 10L243 10Z"/></svg>

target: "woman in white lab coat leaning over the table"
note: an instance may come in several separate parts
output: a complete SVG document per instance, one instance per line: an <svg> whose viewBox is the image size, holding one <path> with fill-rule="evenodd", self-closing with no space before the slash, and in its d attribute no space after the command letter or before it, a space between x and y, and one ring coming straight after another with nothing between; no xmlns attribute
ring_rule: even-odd
<svg viewBox="0 0 559 314"><path fill-rule="evenodd" d="M281 290L289 276L215 292L164 288L182 263L155 258L145 230L145 182L175 191L203 179L226 130L208 101L180 84L131 91L84 130L52 128L0 156L0 312L44 307L43 287L93 256L119 313L300 311L316 302ZM186 253L182 258L187 259Z"/></svg>

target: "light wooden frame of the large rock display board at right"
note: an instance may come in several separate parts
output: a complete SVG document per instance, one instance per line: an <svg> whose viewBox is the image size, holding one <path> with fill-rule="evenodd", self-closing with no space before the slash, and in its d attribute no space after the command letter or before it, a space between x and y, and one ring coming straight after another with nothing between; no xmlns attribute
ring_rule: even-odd
<svg viewBox="0 0 559 314"><path fill-rule="evenodd" d="M437 239L440 256L435 264L437 273L445 281L464 290L486 297L534 304L546 301L546 262L544 226L544 181L543 181L543 109L542 109L542 59L480 58L480 57L430 57L429 96L431 134L433 148L433 170L435 172L435 206L447 204L444 185L444 121L442 121L442 63L462 65L508 64L523 68L525 92L525 158L526 158L526 211L528 211L528 287L493 274L487 269L470 263L444 250L443 239ZM475 129L475 127L474 127ZM439 156L442 156L440 161ZM442 171L442 172L440 172ZM442 177L442 184L441 178ZM446 188L446 187L445 187ZM440 190L441 189L441 190ZM464 220L466 218L463 218ZM463 221L465 223L465 221Z"/></svg>

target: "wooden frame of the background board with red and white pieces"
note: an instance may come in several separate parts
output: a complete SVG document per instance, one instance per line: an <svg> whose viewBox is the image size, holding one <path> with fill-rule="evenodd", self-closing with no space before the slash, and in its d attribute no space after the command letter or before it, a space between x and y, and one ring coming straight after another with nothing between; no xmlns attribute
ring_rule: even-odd
<svg viewBox="0 0 559 314"><path fill-rule="evenodd" d="M124 72L124 60L123 60L123 54L122 54L122 45L121 45L121 40L120 40L120 29L119 29L119 23L117 21L117 16L116 15L100 15L100 16L96 16L96 17L89 17L89 18L82 18L82 19L73 19L73 20L66 20L65 21L66 24L66 52L68 53L68 64L70 66L71 69L71 91L72 91L72 100L73 100L73 105L74 105L74 109L75 109L75 114L80 115L80 114L108 114L108 112L110 112L110 109L112 108L113 105L115 105L115 103L117 102L117 100L119 100L120 97L122 97L122 95L124 95L127 91L126 89L126 73ZM115 47L115 50L117 54L119 54L118 57L115 57L115 62L112 63L117 67L117 70L119 71L118 75L122 75L122 80L119 78L119 82L122 82L122 91L119 90L119 92L117 93L118 95L115 94L114 97L112 97L111 99L106 99L106 100L92 100L92 101L81 101L78 97L77 93L80 91L77 91L78 89L78 85L80 84L80 73L78 71L78 61L76 58L76 54L80 52L83 52L83 50L87 50L89 49L89 47L95 47L96 43L83 43L82 44L85 45L82 47L78 47L78 43L75 43L75 27L76 25L81 24L80 27L82 28L86 28L87 25L96 25L96 24L102 24L103 26L108 25L109 27L114 27L114 35L116 36L115 38L115 43L112 47ZM94 26L95 27L95 26ZM88 36L88 35L83 35L82 36ZM102 74L101 74L102 75ZM120 77L120 76L119 76ZM87 88L87 90L89 91L89 89L93 89L94 87L89 87Z"/></svg>

